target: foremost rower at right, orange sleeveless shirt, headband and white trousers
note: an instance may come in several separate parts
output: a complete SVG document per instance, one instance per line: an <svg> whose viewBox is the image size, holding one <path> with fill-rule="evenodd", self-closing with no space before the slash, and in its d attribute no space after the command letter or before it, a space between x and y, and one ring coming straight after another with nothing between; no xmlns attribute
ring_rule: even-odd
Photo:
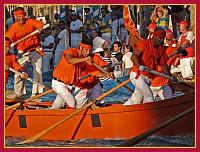
<svg viewBox="0 0 200 152"><path fill-rule="evenodd" d="M137 42L133 46L133 55L131 60L133 67L130 73L130 79L135 86L135 91L131 98L124 105L139 104L142 102L153 102L154 97L150 89L153 74L149 71L157 70L157 65L160 65L163 72L169 76L171 73L166 64L168 57L163 47L163 42L166 32L157 27L150 40Z"/></svg>

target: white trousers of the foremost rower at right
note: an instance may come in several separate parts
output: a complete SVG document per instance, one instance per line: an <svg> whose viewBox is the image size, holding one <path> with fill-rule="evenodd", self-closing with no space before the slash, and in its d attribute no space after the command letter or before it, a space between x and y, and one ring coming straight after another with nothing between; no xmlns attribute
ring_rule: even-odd
<svg viewBox="0 0 200 152"><path fill-rule="evenodd" d="M153 102L154 97L153 93L150 89L151 79L144 75L140 75L137 79L135 79L137 73L131 72L130 79L133 85L135 86L134 93L132 94L131 98L127 101L127 103L131 104L139 104L143 102ZM125 102L126 105L126 102Z"/></svg>

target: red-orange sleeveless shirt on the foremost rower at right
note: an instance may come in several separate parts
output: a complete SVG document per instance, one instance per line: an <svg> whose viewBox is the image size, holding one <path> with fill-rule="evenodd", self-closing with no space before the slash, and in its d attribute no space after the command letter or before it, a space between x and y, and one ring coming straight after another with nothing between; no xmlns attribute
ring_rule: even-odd
<svg viewBox="0 0 200 152"><path fill-rule="evenodd" d="M143 40L134 44L133 48L139 47L142 54L140 58L140 65L148 66L152 70L157 70L158 65L163 65L167 62L168 56L163 46L159 46L158 49L154 48L150 40ZM131 71L139 72L146 75L149 78L153 78L153 74L139 71L138 67L133 65Z"/></svg>

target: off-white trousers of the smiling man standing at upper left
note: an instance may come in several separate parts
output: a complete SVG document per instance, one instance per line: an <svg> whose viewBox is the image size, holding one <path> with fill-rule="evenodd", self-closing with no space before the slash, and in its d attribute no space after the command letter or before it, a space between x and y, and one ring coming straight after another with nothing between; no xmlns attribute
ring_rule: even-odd
<svg viewBox="0 0 200 152"><path fill-rule="evenodd" d="M42 84L42 55L36 51L33 52L23 52L18 51L17 54L18 62L22 66L23 70L27 72L29 64L33 66L33 80ZM18 96L26 94L26 79L20 78L19 75L14 76L14 90ZM42 93L43 88L36 84L32 85L33 93Z"/></svg>

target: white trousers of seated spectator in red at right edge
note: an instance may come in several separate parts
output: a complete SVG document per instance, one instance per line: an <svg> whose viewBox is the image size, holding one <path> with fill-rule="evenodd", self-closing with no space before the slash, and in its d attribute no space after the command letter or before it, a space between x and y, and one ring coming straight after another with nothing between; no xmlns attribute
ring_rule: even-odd
<svg viewBox="0 0 200 152"><path fill-rule="evenodd" d="M193 77L194 57L180 59L180 70L183 78Z"/></svg>

